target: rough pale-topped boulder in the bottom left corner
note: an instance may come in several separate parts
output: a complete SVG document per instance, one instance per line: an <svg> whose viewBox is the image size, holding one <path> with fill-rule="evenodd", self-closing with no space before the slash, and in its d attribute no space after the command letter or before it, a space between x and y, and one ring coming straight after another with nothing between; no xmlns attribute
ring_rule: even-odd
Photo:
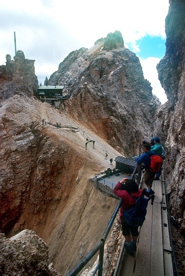
<svg viewBox="0 0 185 276"><path fill-rule="evenodd" d="M61 276L48 261L48 246L34 231L6 239L0 233L0 275Z"/></svg>

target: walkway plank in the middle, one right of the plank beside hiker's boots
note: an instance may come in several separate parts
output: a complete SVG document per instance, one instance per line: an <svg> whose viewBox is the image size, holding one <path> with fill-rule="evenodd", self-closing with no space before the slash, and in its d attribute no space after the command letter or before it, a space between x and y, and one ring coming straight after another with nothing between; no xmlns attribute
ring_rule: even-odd
<svg viewBox="0 0 185 276"><path fill-rule="evenodd" d="M151 232L150 276L164 276L161 204L154 203Z"/></svg>

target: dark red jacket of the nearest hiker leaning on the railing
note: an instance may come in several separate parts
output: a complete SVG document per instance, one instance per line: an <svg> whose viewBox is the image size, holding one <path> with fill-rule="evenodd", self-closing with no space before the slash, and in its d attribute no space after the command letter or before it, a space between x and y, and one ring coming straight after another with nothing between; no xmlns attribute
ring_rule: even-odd
<svg viewBox="0 0 185 276"><path fill-rule="evenodd" d="M120 207L120 219L122 222L124 222L124 219L123 219L124 210L127 210L133 205L135 205L136 199L134 197L136 198L140 197L142 195L142 190L138 190L136 192L131 193L132 195L131 196L128 191L121 189L121 185L122 183L118 182L114 187L113 191L118 197L123 198L123 205Z"/></svg>

